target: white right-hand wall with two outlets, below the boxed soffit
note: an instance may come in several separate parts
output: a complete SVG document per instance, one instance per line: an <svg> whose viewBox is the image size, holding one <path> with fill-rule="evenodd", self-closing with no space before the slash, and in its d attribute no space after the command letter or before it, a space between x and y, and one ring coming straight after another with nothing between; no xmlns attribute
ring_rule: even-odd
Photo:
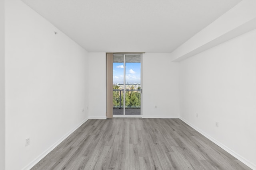
<svg viewBox="0 0 256 170"><path fill-rule="evenodd" d="M180 117L254 169L255 36L250 31L180 63Z"/></svg>

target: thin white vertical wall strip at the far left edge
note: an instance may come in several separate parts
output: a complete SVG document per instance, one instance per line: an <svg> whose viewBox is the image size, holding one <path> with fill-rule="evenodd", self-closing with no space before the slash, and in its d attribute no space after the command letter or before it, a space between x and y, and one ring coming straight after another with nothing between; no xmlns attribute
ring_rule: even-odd
<svg viewBox="0 0 256 170"><path fill-rule="evenodd" d="M5 164L4 0L0 1L0 170Z"/></svg>

